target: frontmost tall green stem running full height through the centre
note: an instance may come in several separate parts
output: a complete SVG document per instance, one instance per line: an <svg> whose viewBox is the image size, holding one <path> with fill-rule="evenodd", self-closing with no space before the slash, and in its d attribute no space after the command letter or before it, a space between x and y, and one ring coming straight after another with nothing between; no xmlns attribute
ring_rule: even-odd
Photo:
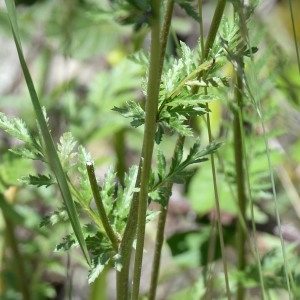
<svg viewBox="0 0 300 300"><path fill-rule="evenodd" d="M142 172L139 192L139 208L137 223L137 244L133 271L132 300L139 297L140 277L144 251L146 212L148 204L148 182L151 171L154 137L156 131L156 116L160 84L160 0L152 0L151 49L150 68L145 107L145 128L142 148Z"/></svg>

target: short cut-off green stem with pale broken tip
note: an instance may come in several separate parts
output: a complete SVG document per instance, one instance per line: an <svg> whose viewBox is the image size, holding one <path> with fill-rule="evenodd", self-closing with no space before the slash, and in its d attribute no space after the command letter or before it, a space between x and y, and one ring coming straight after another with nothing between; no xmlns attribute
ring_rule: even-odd
<svg viewBox="0 0 300 300"><path fill-rule="evenodd" d="M86 169L87 169L87 172L88 172L88 175L89 175L90 185L91 185L91 188L92 188L92 192L93 192L93 196L94 196L94 199L95 199L96 207L98 209L98 213L99 213L100 219L102 221L103 227L104 227L105 232L106 232L108 238L110 239L114 249L117 251L118 246L119 246L118 238L117 238L114 230L112 229L112 227L109 223L107 214L105 212L105 208L104 208L104 205L103 205L103 202L102 202L102 199L101 199L101 195L100 195L100 192L99 192L99 187L98 187L98 184L97 184L97 179L96 179L96 176L95 176L95 169L94 169L93 163L92 162L87 162L86 163Z"/></svg>

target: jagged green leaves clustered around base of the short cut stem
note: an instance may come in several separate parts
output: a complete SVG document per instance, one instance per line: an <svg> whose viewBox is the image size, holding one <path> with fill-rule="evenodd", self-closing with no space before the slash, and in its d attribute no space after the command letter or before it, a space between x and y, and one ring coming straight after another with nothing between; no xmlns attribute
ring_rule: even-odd
<svg viewBox="0 0 300 300"><path fill-rule="evenodd" d="M83 148L81 148L82 151ZM109 219L110 225L118 235L121 235L126 226L129 213L130 203L135 192L135 181L138 173L137 167L130 168L128 174L125 175L124 187L116 185L116 173L113 168L110 168L104 177L104 181L99 186L101 198L103 200L105 212ZM87 174L81 178L82 182L88 182ZM57 226L59 223L65 223L68 220L68 215L65 209L55 210L51 215L46 216L41 226ZM150 219L149 219L150 220ZM111 241L102 228L97 226L98 219L94 219L93 223L86 224L82 227L87 248L92 255L92 267L89 273L89 283L93 282L97 276L103 271L104 264L109 260L114 262L115 268L121 268L121 261L118 258L118 253L115 251ZM73 247L78 247L79 244L73 233L68 234L63 238L55 250L68 251ZM105 261L103 259L105 257Z"/></svg>

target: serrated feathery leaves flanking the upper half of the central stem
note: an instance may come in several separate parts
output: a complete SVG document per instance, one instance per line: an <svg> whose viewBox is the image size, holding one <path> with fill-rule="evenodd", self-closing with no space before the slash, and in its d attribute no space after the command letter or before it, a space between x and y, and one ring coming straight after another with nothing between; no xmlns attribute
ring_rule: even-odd
<svg viewBox="0 0 300 300"><path fill-rule="evenodd" d="M228 33L228 38L231 32ZM187 120L191 116L202 116L209 112L205 104L215 97L206 95L203 91L192 93L192 87L205 86L219 88L228 86L229 79L216 76L225 63L225 50L221 47L216 50L214 58L198 65L201 61L200 45L198 49L191 50L186 44L181 43L179 50L180 59L170 60L168 67L162 75L160 86L159 107L157 112L157 132L156 142L160 143L164 133L164 128L169 128L171 132L177 132L183 136L192 136L193 131ZM137 54L133 58L135 62L145 65L147 59L142 54ZM216 62L217 60L217 62ZM222 62L223 61L223 62ZM200 79L198 77L202 74ZM146 94L146 90L144 90ZM123 116L132 118L131 125L138 127L145 122L145 112L139 103L128 102L125 107L114 110Z"/></svg>

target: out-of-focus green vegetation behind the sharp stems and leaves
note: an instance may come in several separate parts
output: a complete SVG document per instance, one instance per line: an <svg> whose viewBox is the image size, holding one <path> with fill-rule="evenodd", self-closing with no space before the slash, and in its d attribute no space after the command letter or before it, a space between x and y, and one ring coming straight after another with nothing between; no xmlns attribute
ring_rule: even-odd
<svg viewBox="0 0 300 300"><path fill-rule="evenodd" d="M133 130L127 120L111 109L128 100L144 99L140 92L144 70L128 57L140 49L148 49L147 15L130 6L130 1L124 1L123 6L105 0L66 0L63 4L60 0L15 2L27 63L42 105L47 109L54 138L58 141L64 132L71 131L91 152L99 178L103 178L108 166L113 164L122 179L125 170L138 162L142 131ZM256 78L250 84L259 84L254 89L260 93L265 112L284 239L292 245L299 245L300 76L295 39L288 1L260 2L251 23L251 35L259 52ZM204 1L205 31L209 28L215 3ZM292 3L296 42L299 43L300 2L295 0ZM231 11L228 10L230 17ZM172 21L172 34L176 38L170 38L168 53L176 54L177 40L194 47L199 37L197 28L196 21L176 8ZM21 117L34 130L36 120L17 60L4 1L0 1L0 45L0 110ZM224 73L230 72L229 67L224 69ZM228 252L233 253L232 236L237 211L228 185L233 155L231 119L226 102L214 102L211 110L214 136L228 145L220 160L227 167L222 169L220 163L218 168L222 170L219 182L225 241ZM256 201L255 222L259 230L257 243L260 251L268 254L265 267L271 271L278 268L280 275L280 255L272 250L279 246L280 241L271 186L266 180L268 162L263 139L257 138L262 135L262 128L255 112L249 110L249 120L244 125L254 133L247 147L251 149L255 145L255 151L250 153L255 157L250 173L256 174L251 177L251 184ZM203 122L197 121L195 129L201 135ZM204 136L203 141L206 141ZM166 142L163 147L172 149L172 142L170 138L170 144ZM0 131L1 299L22 299L22 281L30 290L30 299L64 299L68 295L72 295L70 299L96 299L93 298L93 289L89 292L86 284L87 271L79 253L53 252L60 236L68 232L68 225L56 226L55 231L40 228L42 217L60 206L60 199L52 187L24 188L18 179L43 166L8 152L17 145L18 141ZM211 170L207 167L199 168L184 188L175 187L166 232L168 246L164 250L170 268L162 270L158 299L199 299L204 287L198 279L200 269L195 267L205 269L208 264L209 224L215 220L213 193ZM198 233L199 227L202 228L201 234ZM150 226L148 245L151 245L152 235ZM294 248L291 251L295 251ZM219 258L218 251L215 258ZM232 260L234 262L234 257ZM293 265L300 281L299 259ZM279 299L276 297L282 287L281 277L275 275L270 277L270 281L274 280L270 287L274 289L272 299ZM217 284L221 280L219 277L216 275ZM253 282L257 280L254 277ZM113 295L109 291L111 286L108 284L107 299L113 299L109 296ZM193 293L189 294L191 288ZM221 299L221 296L213 297L211 299Z"/></svg>

